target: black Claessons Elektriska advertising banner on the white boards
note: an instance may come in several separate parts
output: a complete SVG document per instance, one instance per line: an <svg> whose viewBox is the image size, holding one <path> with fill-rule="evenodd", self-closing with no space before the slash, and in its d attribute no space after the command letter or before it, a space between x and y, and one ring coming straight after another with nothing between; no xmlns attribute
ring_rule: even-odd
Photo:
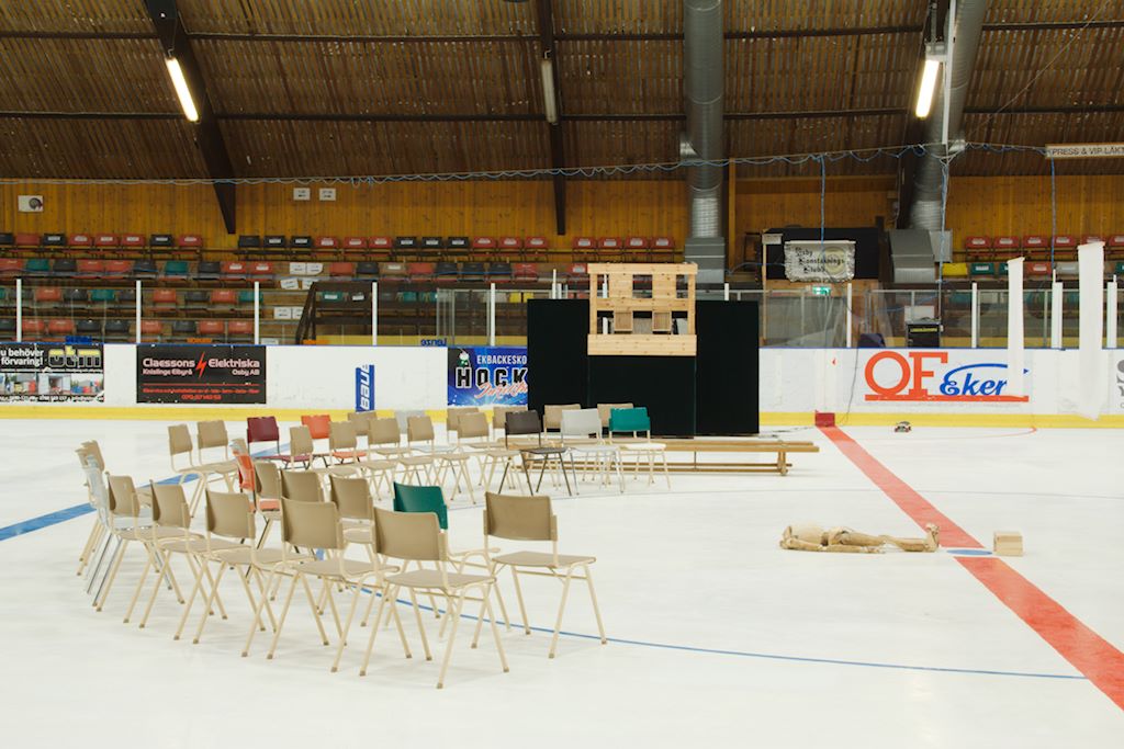
<svg viewBox="0 0 1124 749"><path fill-rule="evenodd" d="M137 346L137 403L264 402L264 346Z"/></svg>

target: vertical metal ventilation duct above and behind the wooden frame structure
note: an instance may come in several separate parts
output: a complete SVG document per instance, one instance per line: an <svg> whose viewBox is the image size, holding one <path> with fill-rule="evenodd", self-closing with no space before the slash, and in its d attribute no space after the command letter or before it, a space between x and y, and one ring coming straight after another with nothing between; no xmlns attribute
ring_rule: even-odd
<svg viewBox="0 0 1124 749"><path fill-rule="evenodd" d="M683 99L687 129L680 156L718 161L724 157L725 40L722 0L683 0ZM690 237L686 259L699 266L699 281L723 280L726 243L723 236L723 168L691 166L687 171Z"/></svg>

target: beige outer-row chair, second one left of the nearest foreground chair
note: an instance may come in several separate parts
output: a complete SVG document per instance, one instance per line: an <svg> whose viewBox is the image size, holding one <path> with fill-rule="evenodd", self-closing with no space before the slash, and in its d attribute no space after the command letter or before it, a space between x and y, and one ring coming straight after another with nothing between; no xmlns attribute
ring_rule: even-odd
<svg viewBox="0 0 1124 749"><path fill-rule="evenodd" d="M223 575L226 574L227 569L236 572L251 610L257 612L252 627L265 629L261 619L261 609L264 608L271 627L277 628L277 620L268 600L270 597L269 591L262 577L262 567L280 563L281 549L256 548L253 545L256 535L256 506L251 497L238 492L207 490L207 536L203 538L202 549L198 551L198 561L201 569L207 573L208 579L210 579L209 566L211 563L218 565L218 575L211 583L211 592L203 602L203 612L199 618L194 638L192 638L193 643L198 645L202 638L203 627L207 624L214 602L218 599L218 586L223 583ZM183 616L180 619L180 628L175 632L176 640L183 633L183 625L187 623L192 604L199 594L202 577L203 575L196 576L196 586L192 588L191 595L188 596ZM261 601L254 599L254 593L250 587L251 578L257 583L257 590L262 596Z"/></svg>

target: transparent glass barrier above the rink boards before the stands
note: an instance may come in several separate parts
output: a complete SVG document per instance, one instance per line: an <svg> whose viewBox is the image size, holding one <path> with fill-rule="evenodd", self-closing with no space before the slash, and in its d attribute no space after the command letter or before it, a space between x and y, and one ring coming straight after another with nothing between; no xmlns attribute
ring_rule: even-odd
<svg viewBox="0 0 1124 749"><path fill-rule="evenodd" d="M337 290L318 290L315 320L309 290L262 284L259 292L256 331L265 345L319 344L370 345L371 319L377 308L378 342L383 346L482 346L495 325L496 344L524 346L527 340L527 305L532 299L551 295L550 281L505 282L496 285L495 310L484 284L443 284L428 281L381 282L377 289L363 283L341 283ZM246 282L189 283L165 278L144 280L140 296L133 280L0 278L0 340L63 340L67 337L107 342L252 342L255 334L254 290ZM291 284L289 284L291 285ZM309 286L311 283L308 284ZM344 289L343 291L338 289ZM851 345L863 332L881 334L886 345L905 347L907 326L940 319L942 346L972 344L972 292L970 287L879 289L855 292L847 309L846 286L803 289L728 290L729 299L753 301L760 309L763 346L844 347L847 325ZM377 293L377 299L372 299ZM583 299L588 287L559 285L569 299ZM720 300L722 287L700 287L700 300ZM1116 295L1116 340L1124 342L1124 290ZM137 304L140 319L137 330ZM1062 345L1075 347L1079 336L1079 294L1073 284L1062 292ZM1007 344L1007 290L982 287L976 294L977 345ZM1051 342L1052 291L1049 285L1023 292L1024 345L1044 348ZM21 316L21 325L17 317ZM493 317L492 317L493 316ZM19 328L19 330L17 330Z"/></svg>

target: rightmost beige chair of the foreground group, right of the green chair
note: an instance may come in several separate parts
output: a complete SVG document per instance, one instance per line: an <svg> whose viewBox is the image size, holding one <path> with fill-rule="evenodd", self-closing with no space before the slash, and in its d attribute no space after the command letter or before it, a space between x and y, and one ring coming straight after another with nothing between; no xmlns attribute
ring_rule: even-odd
<svg viewBox="0 0 1124 749"><path fill-rule="evenodd" d="M523 631L531 634L531 623L527 609L523 603L523 590L519 587L519 575L538 575L553 577L562 582L562 601L559 603L558 618L554 621L554 634L551 638L551 649L547 657L553 658L558 651L559 632L562 630L562 614L565 611L566 597L570 594L570 581L581 579L589 587L589 599L593 603L593 615L597 618L597 631L605 638L605 625L601 623L601 611L597 605L597 594L593 592L593 578L589 566L597 561L596 557L572 556L559 554L558 518L551 509L549 496L511 496L488 492L484 495L484 547L492 538L516 541L550 541L547 551L515 551L513 554L489 555L492 574L504 566L511 569L515 581L515 594L519 600L519 614L523 616Z"/></svg>

